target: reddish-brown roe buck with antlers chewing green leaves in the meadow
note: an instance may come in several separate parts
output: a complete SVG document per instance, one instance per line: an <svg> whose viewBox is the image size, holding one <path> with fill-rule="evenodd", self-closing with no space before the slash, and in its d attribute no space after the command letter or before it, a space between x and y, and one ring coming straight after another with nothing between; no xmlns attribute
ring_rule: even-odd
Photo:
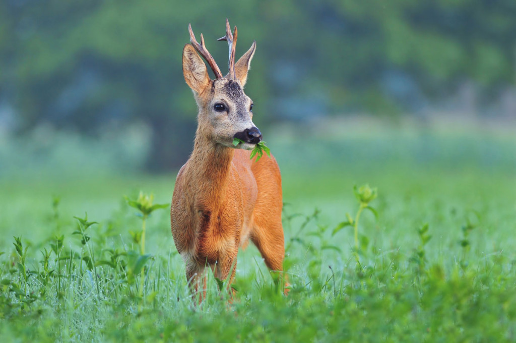
<svg viewBox="0 0 516 343"><path fill-rule="evenodd" d="M252 122L251 99L244 86L256 42L235 63L237 29L226 19L229 73L222 76L201 34L199 44L188 25L191 44L183 49L183 74L199 107L193 151L175 181L170 210L174 243L186 263L191 291L201 301L206 292L205 267L230 284L239 246L249 239L265 264L280 276L285 248L281 212L281 175L276 160L250 159L262 140ZM204 61L212 68L211 80ZM240 143L235 147L234 138ZM202 287L202 290L199 290ZM287 289L285 290L287 292Z"/></svg>

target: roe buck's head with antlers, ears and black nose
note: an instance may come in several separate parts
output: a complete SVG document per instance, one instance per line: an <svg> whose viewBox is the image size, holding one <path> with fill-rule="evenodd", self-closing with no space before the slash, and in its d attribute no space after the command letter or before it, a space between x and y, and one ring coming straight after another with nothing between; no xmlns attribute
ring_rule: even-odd
<svg viewBox="0 0 516 343"><path fill-rule="evenodd" d="M183 75L199 106L197 135L231 148L235 148L233 140L238 138L244 143L239 143L236 148L253 149L262 140L262 134L252 122L253 102L244 93L244 86L256 42L235 63L237 29L235 26L232 34L226 19L226 35L219 40L227 40L229 44L229 73L222 76L204 45L202 34L199 44L190 24L188 30L190 44L183 49ZM197 52L212 68L215 80L209 78L206 65Z"/></svg>

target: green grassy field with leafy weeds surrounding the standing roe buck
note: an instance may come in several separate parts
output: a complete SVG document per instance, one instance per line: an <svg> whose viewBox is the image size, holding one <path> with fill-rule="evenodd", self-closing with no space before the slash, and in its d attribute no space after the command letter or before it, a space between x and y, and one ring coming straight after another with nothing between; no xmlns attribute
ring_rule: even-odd
<svg viewBox="0 0 516 343"><path fill-rule="evenodd" d="M210 275L196 307L167 209L146 221L142 252L124 196L167 203L175 175L31 170L0 179L2 341L516 340L516 138L273 136L288 297L249 246L233 303ZM357 250L352 227L334 229L356 216L353 185L366 183L378 216L361 213ZM74 219L85 212L98 224Z"/></svg>

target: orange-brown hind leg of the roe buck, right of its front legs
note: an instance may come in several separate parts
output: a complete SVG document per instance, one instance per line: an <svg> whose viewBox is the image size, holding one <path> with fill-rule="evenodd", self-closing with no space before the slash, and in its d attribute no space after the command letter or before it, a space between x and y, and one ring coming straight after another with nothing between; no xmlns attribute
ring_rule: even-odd
<svg viewBox="0 0 516 343"><path fill-rule="evenodd" d="M285 283L285 286L288 286L287 276L283 274L285 245L281 222L266 227L255 227L251 235L251 241L262 254L275 283L280 285ZM288 288L285 288L284 293L285 295L288 293Z"/></svg>

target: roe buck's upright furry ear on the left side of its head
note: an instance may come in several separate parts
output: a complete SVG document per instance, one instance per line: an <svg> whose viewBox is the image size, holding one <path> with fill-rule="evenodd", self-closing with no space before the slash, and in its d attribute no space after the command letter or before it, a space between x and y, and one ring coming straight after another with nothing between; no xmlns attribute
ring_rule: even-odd
<svg viewBox="0 0 516 343"><path fill-rule="evenodd" d="M209 85L206 65L191 44L186 44L183 49L183 75L188 86L197 93Z"/></svg>

